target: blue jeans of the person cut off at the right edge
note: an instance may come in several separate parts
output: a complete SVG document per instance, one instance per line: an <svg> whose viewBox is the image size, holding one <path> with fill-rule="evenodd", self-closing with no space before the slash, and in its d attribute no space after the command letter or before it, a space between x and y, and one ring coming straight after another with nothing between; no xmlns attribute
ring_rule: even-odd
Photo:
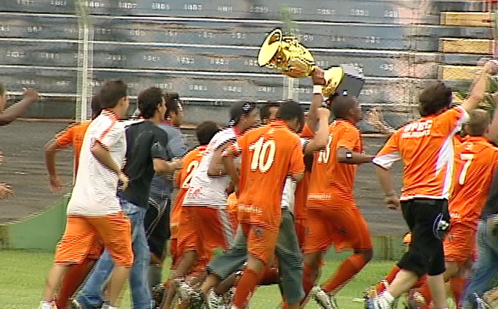
<svg viewBox="0 0 498 309"><path fill-rule="evenodd" d="M476 235L477 261L472 267L472 277L465 291L464 303L467 306L473 303L474 293L482 296L493 287L498 277L498 237L489 234L486 221L480 220Z"/></svg>

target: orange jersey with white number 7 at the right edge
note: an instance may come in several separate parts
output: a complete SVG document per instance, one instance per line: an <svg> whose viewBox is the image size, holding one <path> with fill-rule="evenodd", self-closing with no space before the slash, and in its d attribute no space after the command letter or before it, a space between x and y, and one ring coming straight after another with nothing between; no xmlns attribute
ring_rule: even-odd
<svg viewBox="0 0 498 309"><path fill-rule="evenodd" d="M498 148L484 137L467 137L455 147L453 192L449 201L452 218L477 224L496 167Z"/></svg>

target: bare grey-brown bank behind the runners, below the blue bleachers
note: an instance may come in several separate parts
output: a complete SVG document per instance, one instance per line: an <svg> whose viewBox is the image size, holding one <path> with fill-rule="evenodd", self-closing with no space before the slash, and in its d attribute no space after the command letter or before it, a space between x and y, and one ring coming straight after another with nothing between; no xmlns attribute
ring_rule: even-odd
<svg viewBox="0 0 498 309"><path fill-rule="evenodd" d="M0 223L41 212L61 198L61 194L53 194L49 190L44 145L66 125L65 122L18 120L0 127L0 150L4 153L4 163L0 165L0 182L12 185L15 191L14 197L0 201ZM194 146L191 133L192 131L186 131L191 146ZM384 142L383 138L365 138L366 153L377 153ZM58 171L65 183L63 193L68 193L71 185L72 152L59 153L57 161ZM399 164L394 167L393 174L396 183L401 184ZM355 196L373 235L403 235L406 230L403 218L400 212L384 206L372 164L363 164L358 169Z"/></svg>

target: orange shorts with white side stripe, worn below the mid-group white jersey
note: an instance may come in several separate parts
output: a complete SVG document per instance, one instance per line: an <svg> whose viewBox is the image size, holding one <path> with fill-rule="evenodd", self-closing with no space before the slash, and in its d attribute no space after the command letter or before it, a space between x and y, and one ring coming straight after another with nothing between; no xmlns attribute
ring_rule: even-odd
<svg viewBox="0 0 498 309"><path fill-rule="evenodd" d="M217 248L228 249L233 239L232 225L224 208L182 207L178 230L179 253L196 251L209 259Z"/></svg>

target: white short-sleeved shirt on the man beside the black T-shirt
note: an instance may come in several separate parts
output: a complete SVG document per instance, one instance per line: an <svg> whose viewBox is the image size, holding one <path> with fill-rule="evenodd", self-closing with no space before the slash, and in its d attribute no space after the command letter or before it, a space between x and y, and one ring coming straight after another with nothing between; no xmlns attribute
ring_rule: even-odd
<svg viewBox="0 0 498 309"><path fill-rule="evenodd" d="M67 205L68 214L102 216L121 211L117 197L117 174L100 163L92 154L92 146L99 142L109 150L109 154L119 168L122 168L126 155L125 124L118 121L110 110L92 121L87 129L76 174L76 182Z"/></svg>

